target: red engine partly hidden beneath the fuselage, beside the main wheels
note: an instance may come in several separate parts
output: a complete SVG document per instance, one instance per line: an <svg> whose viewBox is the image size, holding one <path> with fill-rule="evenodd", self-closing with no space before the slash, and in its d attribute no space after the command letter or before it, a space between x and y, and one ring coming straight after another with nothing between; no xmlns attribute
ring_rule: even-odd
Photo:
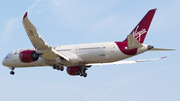
<svg viewBox="0 0 180 101"><path fill-rule="evenodd" d="M79 66L68 66L67 73L69 75L79 75L80 67Z"/></svg>

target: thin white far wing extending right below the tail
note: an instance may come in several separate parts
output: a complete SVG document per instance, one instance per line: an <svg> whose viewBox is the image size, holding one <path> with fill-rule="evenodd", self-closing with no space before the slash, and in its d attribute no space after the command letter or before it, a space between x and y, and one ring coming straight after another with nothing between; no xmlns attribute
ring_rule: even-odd
<svg viewBox="0 0 180 101"><path fill-rule="evenodd" d="M130 61L117 61L117 62L111 62L111 63L94 63L94 64L86 64L87 66L89 65L96 65L96 66L102 66L102 65L118 65L118 64L132 64L132 63L137 63L137 62L146 62L150 60L159 60L159 59L164 59L166 57L161 57L161 58L155 58L155 59L144 59L144 60L130 60Z"/></svg>

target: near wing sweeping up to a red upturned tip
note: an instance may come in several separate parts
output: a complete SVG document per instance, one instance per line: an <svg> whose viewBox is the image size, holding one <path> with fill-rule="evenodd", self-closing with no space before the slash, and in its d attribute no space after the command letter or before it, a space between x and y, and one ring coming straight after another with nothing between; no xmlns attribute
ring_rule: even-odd
<svg viewBox="0 0 180 101"><path fill-rule="evenodd" d="M44 59L55 59L56 57L60 56L61 58L69 61L69 58L67 56L54 50L41 38L41 36L37 33L37 29L29 21L27 12L23 17L23 25L34 48L38 53L43 53L42 56Z"/></svg>

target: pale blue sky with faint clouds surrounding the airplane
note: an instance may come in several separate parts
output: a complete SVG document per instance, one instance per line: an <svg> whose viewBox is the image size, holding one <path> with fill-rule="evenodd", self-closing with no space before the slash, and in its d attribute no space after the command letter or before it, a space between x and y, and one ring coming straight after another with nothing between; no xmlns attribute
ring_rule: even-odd
<svg viewBox="0 0 180 101"><path fill-rule="evenodd" d="M157 8L145 44L173 52L146 52L130 58L166 59L132 65L93 66L87 78L52 67L10 69L0 64L0 101L180 101L179 0L0 1L0 60L33 47L22 25L28 18L52 46L122 41Z"/></svg>

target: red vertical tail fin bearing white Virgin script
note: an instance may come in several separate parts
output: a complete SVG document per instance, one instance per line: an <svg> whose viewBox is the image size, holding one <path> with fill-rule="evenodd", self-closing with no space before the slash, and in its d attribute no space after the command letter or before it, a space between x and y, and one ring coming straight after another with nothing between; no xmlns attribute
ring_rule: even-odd
<svg viewBox="0 0 180 101"><path fill-rule="evenodd" d="M148 32L149 26L153 19L153 16L156 12L156 9L150 10L144 18L139 22L139 24L134 28L134 30L130 33L136 38L140 43L144 42L146 34ZM127 42L127 38L123 41Z"/></svg>

